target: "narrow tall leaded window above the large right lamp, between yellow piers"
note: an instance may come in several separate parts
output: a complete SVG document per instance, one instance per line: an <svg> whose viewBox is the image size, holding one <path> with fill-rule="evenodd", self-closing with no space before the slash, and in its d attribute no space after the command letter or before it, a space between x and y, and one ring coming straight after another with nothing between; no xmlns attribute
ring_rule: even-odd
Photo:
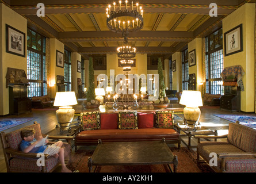
<svg viewBox="0 0 256 184"><path fill-rule="evenodd" d="M182 61L182 90L188 90L189 84L189 53L188 48L181 52Z"/></svg>

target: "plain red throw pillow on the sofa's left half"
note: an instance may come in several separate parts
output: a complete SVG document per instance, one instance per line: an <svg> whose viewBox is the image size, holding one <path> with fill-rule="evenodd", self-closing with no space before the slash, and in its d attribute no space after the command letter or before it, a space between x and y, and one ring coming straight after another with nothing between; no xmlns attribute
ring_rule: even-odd
<svg viewBox="0 0 256 184"><path fill-rule="evenodd" d="M118 114L117 113L101 113L101 129L117 129Z"/></svg>

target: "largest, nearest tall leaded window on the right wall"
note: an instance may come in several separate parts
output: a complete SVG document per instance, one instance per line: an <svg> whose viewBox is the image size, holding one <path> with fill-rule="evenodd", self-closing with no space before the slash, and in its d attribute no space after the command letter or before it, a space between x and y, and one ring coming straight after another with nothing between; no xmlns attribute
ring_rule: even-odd
<svg viewBox="0 0 256 184"><path fill-rule="evenodd" d="M206 93L223 94L220 85L223 71L223 34L222 28L205 37L205 78Z"/></svg>

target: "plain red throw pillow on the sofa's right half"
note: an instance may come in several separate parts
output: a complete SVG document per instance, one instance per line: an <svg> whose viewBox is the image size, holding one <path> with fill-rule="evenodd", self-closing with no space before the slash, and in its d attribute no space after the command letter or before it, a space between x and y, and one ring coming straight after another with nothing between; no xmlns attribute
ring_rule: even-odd
<svg viewBox="0 0 256 184"><path fill-rule="evenodd" d="M153 128L154 113L137 113L138 128Z"/></svg>

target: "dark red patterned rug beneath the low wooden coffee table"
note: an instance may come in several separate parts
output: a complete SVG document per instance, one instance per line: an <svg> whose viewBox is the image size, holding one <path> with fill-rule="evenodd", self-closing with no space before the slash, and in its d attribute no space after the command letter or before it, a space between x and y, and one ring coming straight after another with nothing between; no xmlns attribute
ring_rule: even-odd
<svg viewBox="0 0 256 184"><path fill-rule="evenodd" d="M197 163L196 152L188 150L185 147L170 148L173 155L178 156L177 173L212 173L212 170L206 163ZM79 173L88 173L87 160L93 154L93 151L78 150L71 155L71 162L67 167ZM173 165L171 165L173 167ZM170 173L167 165L136 165L136 166L98 166L96 173Z"/></svg>

